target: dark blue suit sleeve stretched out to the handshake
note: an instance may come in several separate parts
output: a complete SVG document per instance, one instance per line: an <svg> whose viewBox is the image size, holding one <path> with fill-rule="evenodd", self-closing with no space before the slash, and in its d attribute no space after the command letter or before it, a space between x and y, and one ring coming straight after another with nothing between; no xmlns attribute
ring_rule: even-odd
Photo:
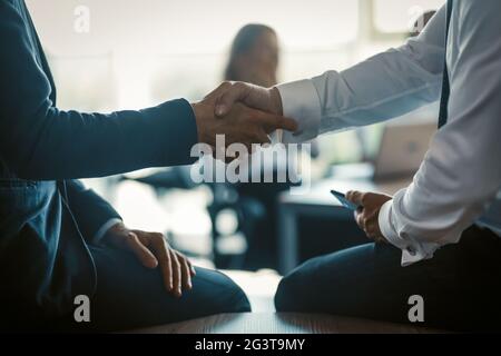
<svg viewBox="0 0 501 356"><path fill-rule="evenodd" d="M197 130L186 100L108 115L59 110L10 1L0 1L0 158L18 177L101 177L193 161Z"/></svg>

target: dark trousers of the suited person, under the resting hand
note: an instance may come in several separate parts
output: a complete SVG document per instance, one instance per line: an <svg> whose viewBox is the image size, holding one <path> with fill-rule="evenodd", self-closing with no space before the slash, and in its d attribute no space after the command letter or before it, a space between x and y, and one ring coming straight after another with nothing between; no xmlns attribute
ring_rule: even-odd
<svg viewBox="0 0 501 356"><path fill-rule="evenodd" d="M180 298L168 294L159 268L143 267L127 251L90 247L97 268L97 293L90 300L90 323L69 317L59 329L126 330L181 322L219 313L250 312L244 291L219 271L196 268L193 289Z"/></svg>

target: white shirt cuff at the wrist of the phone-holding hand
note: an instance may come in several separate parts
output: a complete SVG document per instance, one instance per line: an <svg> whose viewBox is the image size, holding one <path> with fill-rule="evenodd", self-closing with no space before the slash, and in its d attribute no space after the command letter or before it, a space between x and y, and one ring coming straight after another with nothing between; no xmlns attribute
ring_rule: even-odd
<svg viewBox="0 0 501 356"><path fill-rule="evenodd" d="M420 244L413 244L411 240L399 235L392 221L392 208L393 200L383 204L380 209L379 224L381 234L383 234L384 238L402 250L402 267L433 257L433 251L436 249L434 246L435 244L421 246Z"/></svg>

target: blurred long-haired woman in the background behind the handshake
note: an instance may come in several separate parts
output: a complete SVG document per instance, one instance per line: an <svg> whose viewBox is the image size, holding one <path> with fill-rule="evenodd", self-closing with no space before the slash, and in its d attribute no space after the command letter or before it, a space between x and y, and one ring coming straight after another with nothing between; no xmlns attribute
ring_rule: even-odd
<svg viewBox="0 0 501 356"><path fill-rule="evenodd" d="M224 79L272 87L277 83L278 61L279 46L275 30L265 24L246 24L233 41ZM262 174L264 169L262 167ZM277 268L276 199L289 186L288 182L276 182L276 179L274 182L234 186L240 202L247 206L244 209L247 217L250 217L244 224L252 225L244 228L248 248L239 268Z"/></svg>

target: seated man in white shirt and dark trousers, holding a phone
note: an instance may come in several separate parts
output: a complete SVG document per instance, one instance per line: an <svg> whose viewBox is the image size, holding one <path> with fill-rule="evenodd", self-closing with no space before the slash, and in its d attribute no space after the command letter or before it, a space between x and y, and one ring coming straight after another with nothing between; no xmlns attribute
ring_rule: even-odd
<svg viewBox="0 0 501 356"><path fill-rule="evenodd" d="M394 197L347 195L362 206L355 218L374 243L295 269L278 287L278 310L409 323L409 300L419 295L423 325L501 329L501 238L493 233L501 216L482 217L501 188L499 13L498 0L450 0L418 38L345 71L269 89L228 85L216 113L237 100L283 112L299 122L286 142L441 98L441 129L413 182Z"/></svg>

